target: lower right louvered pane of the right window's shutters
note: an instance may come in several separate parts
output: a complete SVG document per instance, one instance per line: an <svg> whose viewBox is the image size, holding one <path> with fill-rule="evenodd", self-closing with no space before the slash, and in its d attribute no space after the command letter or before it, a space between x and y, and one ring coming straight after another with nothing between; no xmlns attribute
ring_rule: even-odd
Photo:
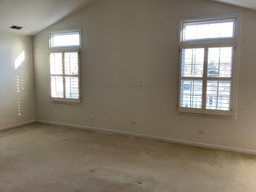
<svg viewBox="0 0 256 192"><path fill-rule="evenodd" d="M207 81L206 109L229 110L231 81Z"/></svg>

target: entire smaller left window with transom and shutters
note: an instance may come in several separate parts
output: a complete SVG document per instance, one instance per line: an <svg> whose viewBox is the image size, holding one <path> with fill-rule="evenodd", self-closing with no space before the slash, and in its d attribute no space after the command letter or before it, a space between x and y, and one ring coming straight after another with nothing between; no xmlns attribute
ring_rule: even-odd
<svg viewBox="0 0 256 192"><path fill-rule="evenodd" d="M51 100L81 103L80 29L49 32Z"/></svg>

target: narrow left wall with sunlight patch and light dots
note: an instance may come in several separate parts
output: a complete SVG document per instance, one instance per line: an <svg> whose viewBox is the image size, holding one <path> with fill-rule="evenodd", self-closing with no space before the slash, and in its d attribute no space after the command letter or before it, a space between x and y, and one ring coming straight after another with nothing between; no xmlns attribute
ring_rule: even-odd
<svg viewBox="0 0 256 192"><path fill-rule="evenodd" d="M0 128L33 120L33 39L0 33Z"/></svg>

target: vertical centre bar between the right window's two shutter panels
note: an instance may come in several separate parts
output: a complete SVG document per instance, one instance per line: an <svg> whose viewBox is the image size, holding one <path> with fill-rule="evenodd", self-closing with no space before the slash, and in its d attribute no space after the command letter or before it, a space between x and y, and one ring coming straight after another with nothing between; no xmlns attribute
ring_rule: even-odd
<svg viewBox="0 0 256 192"><path fill-rule="evenodd" d="M207 92L207 68L208 68L208 46L204 47L204 71L203 71L203 90L202 90L202 113L206 109L206 92Z"/></svg>

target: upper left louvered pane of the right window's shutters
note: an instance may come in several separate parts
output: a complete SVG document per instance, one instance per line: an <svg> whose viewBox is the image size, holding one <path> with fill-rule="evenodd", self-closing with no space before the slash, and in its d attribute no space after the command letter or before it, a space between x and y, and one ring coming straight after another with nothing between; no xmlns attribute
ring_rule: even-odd
<svg viewBox="0 0 256 192"><path fill-rule="evenodd" d="M182 49L181 76L202 77L204 70L204 48Z"/></svg>

